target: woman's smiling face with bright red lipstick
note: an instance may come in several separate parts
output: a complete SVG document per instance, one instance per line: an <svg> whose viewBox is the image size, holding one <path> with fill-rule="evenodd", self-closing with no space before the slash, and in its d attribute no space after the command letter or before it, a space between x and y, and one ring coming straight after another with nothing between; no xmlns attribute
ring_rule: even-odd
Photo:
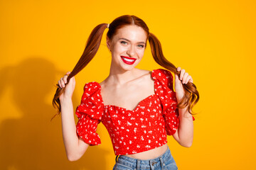
<svg viewBox="0 0 256 170"><path fill-rule="evenodd" d="M146 45L146 32L139 26L119 28L107 47L112 53L111 66L123 70L133 69L142 60Z"/></svg>

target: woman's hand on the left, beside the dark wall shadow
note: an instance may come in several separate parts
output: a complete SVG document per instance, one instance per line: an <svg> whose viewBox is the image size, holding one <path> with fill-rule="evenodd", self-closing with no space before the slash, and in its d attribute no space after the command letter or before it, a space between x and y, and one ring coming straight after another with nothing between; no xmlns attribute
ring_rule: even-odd
<svg viewBox="0 0 256 170"><path fill-rule="evenodd" d="M69 83L66 84L69 74L70 72L67 72L67 74L65 74L64 77L61 77L58 81L58 84L61 89L63 89L66 86L65 91L63 92L63 94L60 95L60 101L63 101L64 98L72 98L73 96L73 92L75 90L75 77L72 77Z"/></svg>

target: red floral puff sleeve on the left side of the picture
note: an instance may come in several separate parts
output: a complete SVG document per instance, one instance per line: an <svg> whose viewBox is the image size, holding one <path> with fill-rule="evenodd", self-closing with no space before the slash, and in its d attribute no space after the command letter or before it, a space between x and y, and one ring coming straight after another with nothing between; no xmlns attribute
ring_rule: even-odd
<svg viewBox="0 0 256 170"><path fill-rule="evenodd" d="M100 136L96 132L104 111L100 88L100 84L95 81L85 84L81 103L75 111L78 116L77 135L90 146L101 144Z"/></svg>

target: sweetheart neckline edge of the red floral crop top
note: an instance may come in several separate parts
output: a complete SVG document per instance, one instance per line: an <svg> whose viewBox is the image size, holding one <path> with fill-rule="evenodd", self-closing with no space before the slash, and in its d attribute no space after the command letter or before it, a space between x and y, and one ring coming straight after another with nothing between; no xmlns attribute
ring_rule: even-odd
<svg viewBox="0 0 256 170"><path fill-rule="evenodd" d="M102 100L102 104L104 106L104 108L107 108L107 107L114 107L114 108L121 108L121 109L124 109L125 111L131 111L131 112L134 112L134 111L137 111L137 108L139 108L140 104L143 103L144 101L146 101L147 99L149 99L150 97L154 97L154 96L157 96L156 95L156 81L154 79L154 77L152 77L152 74L154 72L154 69L151 71L151 78L154 80L154 94L151 94L149 96L147 96L146 98L143 98L141 101L139 101L139 103L137 103L137 106L135 106L134 109L128 109L128 108L123 108L123 107L120 107L120 106L116 106L116 105L112 105L112 104L109 104L109 105L105 105L104 101L103 101L103 98L102 98L102 94L101 94L101 89L102 89L102 86L100 86L100 83L98 83L97 81L95 81L99 86L100 86L100 98Z"/></svg>

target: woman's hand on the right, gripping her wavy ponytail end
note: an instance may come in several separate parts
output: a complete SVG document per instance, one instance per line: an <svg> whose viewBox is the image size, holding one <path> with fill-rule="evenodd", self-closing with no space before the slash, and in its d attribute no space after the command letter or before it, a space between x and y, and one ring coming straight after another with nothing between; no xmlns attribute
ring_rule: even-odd
<svg viewBox="0 0 256 170"><path fill-rule="evenodd" d="M188 81L191 81L193 83L193 79L190 75L188 75L187 72L185 72L185 69L181 69L181 67L177 68L178 72L181 72L180 77L175 74L175 91L176 91L176 98L177 101L181 101L181 98L184 96L184 89L182 84L187 84Z"/></svg>

